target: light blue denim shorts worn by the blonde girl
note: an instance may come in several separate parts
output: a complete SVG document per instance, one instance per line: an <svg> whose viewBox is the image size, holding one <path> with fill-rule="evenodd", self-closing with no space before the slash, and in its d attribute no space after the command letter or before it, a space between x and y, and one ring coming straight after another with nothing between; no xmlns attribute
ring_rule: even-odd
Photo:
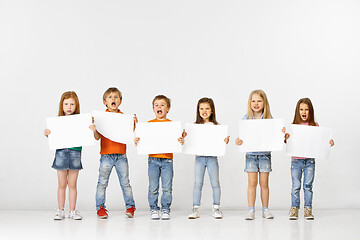
<svg viewBox="0 0 360 240"><path fill-rule="evenodd" d="M246 154L245 172L271 172L271 154Z"/></svg>

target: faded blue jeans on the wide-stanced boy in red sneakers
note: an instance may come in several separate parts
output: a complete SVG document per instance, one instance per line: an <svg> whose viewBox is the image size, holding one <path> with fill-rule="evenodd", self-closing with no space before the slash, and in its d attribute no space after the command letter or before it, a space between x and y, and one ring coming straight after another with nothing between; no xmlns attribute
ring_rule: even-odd
<svg viewBox="0 0 360 240"><path fill-rule="evenodd" d="M99 180L96 188L96 210L99 210L101 206L105 207L106 188L114 166L123 192L126 209L135 207L126 154L102 154L100 158Z"/></svg>

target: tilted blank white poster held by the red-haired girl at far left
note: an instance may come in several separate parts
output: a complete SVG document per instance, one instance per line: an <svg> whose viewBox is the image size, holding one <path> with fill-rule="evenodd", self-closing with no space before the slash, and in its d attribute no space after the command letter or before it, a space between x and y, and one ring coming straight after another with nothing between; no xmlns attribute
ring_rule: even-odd
<svg viewBox="0 0 360 240"><path fill-rule="evenodd" d="M51 117L46 123L51 132L48 136L51 150L94 145L94 133L89 128L90 113Z"/></svg>

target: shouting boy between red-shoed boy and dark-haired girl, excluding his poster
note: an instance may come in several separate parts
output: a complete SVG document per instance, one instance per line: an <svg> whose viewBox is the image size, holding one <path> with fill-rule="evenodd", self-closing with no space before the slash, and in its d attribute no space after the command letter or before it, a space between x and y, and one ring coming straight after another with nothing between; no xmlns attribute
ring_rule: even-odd
<svg viewBox="0 0 360 240"><path fill-rule="evenodd" d="M170 111L170 99L164 95L158 95L154 98L153 111L156 118L149 122L169 122L171 120L166 118ZM183 136L178 139L181 144L184 144ZM140 138L135 138L135 144L139 142ZM148 200L150 205L151 219L160 219L160 207L158 206L159 197L159 182L161 178L161 219L170 219L170 206L172 202L172 180L173 180L173 154L149 154L148 161L148 175L149 175L149 192Z"/></svg>

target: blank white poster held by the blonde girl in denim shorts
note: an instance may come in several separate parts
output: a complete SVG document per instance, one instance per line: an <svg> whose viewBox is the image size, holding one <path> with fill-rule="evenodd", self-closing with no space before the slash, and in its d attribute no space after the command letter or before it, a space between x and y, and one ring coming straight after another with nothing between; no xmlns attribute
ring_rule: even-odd
<svg viewBox="0 0 360 240"><path fill-rule="evenodd" d="M239 139L243 144L240 152L281 151L284 145L282 119L240 120Z"/></svg>

